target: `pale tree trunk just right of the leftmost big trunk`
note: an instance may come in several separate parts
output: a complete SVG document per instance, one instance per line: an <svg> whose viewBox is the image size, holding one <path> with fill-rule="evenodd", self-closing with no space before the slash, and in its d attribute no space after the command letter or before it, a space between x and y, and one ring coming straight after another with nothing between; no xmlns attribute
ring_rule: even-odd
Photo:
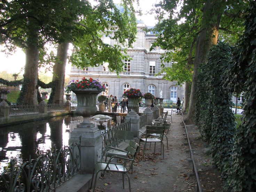
<svg viewBox="0 0 256 192"><path fill-rule="evenodd" d="M65 81L65 69L67 61L67 50L69 48L69 43L59 43L57 49L58 62L53 66L53 81L57 80L54 103L63 104L64 103L64 81Z"/></svg>

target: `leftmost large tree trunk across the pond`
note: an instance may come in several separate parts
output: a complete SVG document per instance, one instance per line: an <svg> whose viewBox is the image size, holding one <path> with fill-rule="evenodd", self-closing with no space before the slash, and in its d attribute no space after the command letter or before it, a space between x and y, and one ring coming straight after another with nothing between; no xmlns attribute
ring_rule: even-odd
<svg viewBox="0 0 256 192"><path fill-rule="evenodd" d="M23 102L25 105L37 105L37 81L38 81L38 29L33 21L28 21L29 32L27 34L27 49L24 78L30 80ZM23 85L24 86L24 85Z"/></svg>

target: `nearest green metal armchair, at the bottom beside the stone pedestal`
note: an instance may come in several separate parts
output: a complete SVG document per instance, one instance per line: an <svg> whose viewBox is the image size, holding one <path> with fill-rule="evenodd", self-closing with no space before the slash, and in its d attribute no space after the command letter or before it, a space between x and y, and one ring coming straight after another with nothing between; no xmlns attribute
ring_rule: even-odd
<svg viewBox="0 0 256 192"><path fill-rule="evenodd" d="M129 170L133 167L133 163L134 163L134 160L136 158L136 155L139 151L139 146L136 145L137 148L134 148L132 146L128 146L127 147L127 153L128 154L131 154L131 157L132 158L127 158L127 157L120 157L118 155L114 155L112 156L109 161L105 162L105 161L99 161L97 163L95 163L94 165L94 171L93 171L93 177L91 179L91 186L90 186L90 189L93 185L93 192L95 192L95 187L96 187L96 182L97 182L97 176L98 176L98 173L103 171L107 171L107 172L118 172L118 173L122 173L122 179L123 179L123 189L125 189L125 183L124 183L124 175L126 174L127 177L128 177L128 183L129 183L129 191L131 192L131 183L130 183L130 177L129 175L127 174L129 172ZM127 154L127 155L128 155ZM103 154L104 155L104 154ZM114 158L118 158L118 159L121 159L121 160L124 160L122 163L114 163L114 162L111 162L112 159ZM128 168L126 168L125 164L126 164L126 161L130 161L130 166ZM94 174L95 174L95 177L94 177ZM94 181L94 184L93 184L93 181Z"/></svg>

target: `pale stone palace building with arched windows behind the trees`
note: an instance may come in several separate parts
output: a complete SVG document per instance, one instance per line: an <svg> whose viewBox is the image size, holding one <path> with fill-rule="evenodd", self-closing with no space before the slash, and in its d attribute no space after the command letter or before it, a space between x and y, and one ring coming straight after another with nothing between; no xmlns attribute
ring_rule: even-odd
<svg viewBox="0 0 256 192"><path fill-rule="evenodd" d="M115 72L108 70L108 63L98 67L88 67L78 69L71 67L70 80L77 80L83 77L98 79L102 85L106 86L104 95L117 96L120 100L123 91L129 88L140 89L143 93L150 92L155 97L172 100L174 103L179 97L184 96L184 85L177 86L176 81L170 82L162 79L162 75L155 77L155 74L161 70L161 54L164 53L159 47L150 51L151 44L155 41L155 34L148 34L143 31L146 25L143 22L137 23L137 40L133 43L133 48L128 48L127 54L131 59L124 60L123 72L120 78ZM114 45L116 42L106 35L103 37L105 43ZM171 63L165 63L171 66Z"/></svg>

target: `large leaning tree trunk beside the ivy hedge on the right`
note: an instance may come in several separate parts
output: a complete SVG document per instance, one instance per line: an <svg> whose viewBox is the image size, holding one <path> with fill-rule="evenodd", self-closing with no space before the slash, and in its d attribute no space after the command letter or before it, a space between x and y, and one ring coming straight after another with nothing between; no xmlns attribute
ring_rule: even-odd
<svg viewBox="0 0 256 192"><path fill-rule="evenodd" d="M195 112L195 87L197 84L197 74L198 67L201 63L205 62L207 52L212 45L217 44L218 40L218 28L220 22L221 12L221 3L213 3L211 0L207 0L205 7L203 8L203 21L205 23L206 29L199 34L199 39L197 42L197 47L195 49L195 60L194 60L194 71L192 77L192 86L190 92L190 104L189 112L187 114L186 123L192 124ZM216 22L212 26L207 27L207 23L211 21L211 18L216 17ZM201 101L203 102L203 101Z"/></svg>

